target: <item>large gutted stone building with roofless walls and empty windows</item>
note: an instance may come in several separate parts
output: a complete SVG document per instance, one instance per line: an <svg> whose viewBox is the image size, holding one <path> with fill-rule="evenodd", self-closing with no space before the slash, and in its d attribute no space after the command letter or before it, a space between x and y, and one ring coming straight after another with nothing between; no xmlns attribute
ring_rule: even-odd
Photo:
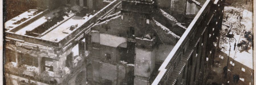
<svg viewBox="0 0 256 85"><path fill-rule="evenodd" d="M5 22L15 85L203 85L225 0L34 0Z"/></svg>

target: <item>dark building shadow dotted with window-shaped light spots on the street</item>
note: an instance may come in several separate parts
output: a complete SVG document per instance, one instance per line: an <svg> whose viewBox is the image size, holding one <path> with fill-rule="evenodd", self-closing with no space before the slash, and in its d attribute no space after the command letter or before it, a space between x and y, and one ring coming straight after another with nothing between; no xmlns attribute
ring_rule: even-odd
<svg viewBox="0 0 256 85"><path fill-rule="evenodd" d="M234 60L232 57L230 57L228 60L228 54L222 51L216 54L214 58L214 66L212 67L212 72L210 74L210 77L214 77L214 78L211 78L212 80L210 80L212 84L216 82L218 84L224 83L225 85L228 85L228 84L229 85L253 85L253 69ZM243 56L238 56L238 57L243 57ZM228 61L228 77L224 78L223 68L227 66L227 61ZM246 63L246 62L247 61L244 61L243 63ZM233 76L235 74L239 75L240 77L238 83L233 82Z"/></svg>

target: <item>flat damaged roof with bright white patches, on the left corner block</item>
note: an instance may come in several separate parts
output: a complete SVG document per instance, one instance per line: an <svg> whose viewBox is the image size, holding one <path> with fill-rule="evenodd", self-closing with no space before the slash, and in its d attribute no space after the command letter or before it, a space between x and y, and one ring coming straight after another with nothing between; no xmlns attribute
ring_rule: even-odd
<svg viewBox="0 0 256 85"><path fill-rule="evenodd" d="M6 37L15 41L62 48L87 30L84 28L92 26L100 16L104 16L117 2L112 1L101 10L95 10L96 12L78 5L54 10L28 10L5 23Z"/></svg>

